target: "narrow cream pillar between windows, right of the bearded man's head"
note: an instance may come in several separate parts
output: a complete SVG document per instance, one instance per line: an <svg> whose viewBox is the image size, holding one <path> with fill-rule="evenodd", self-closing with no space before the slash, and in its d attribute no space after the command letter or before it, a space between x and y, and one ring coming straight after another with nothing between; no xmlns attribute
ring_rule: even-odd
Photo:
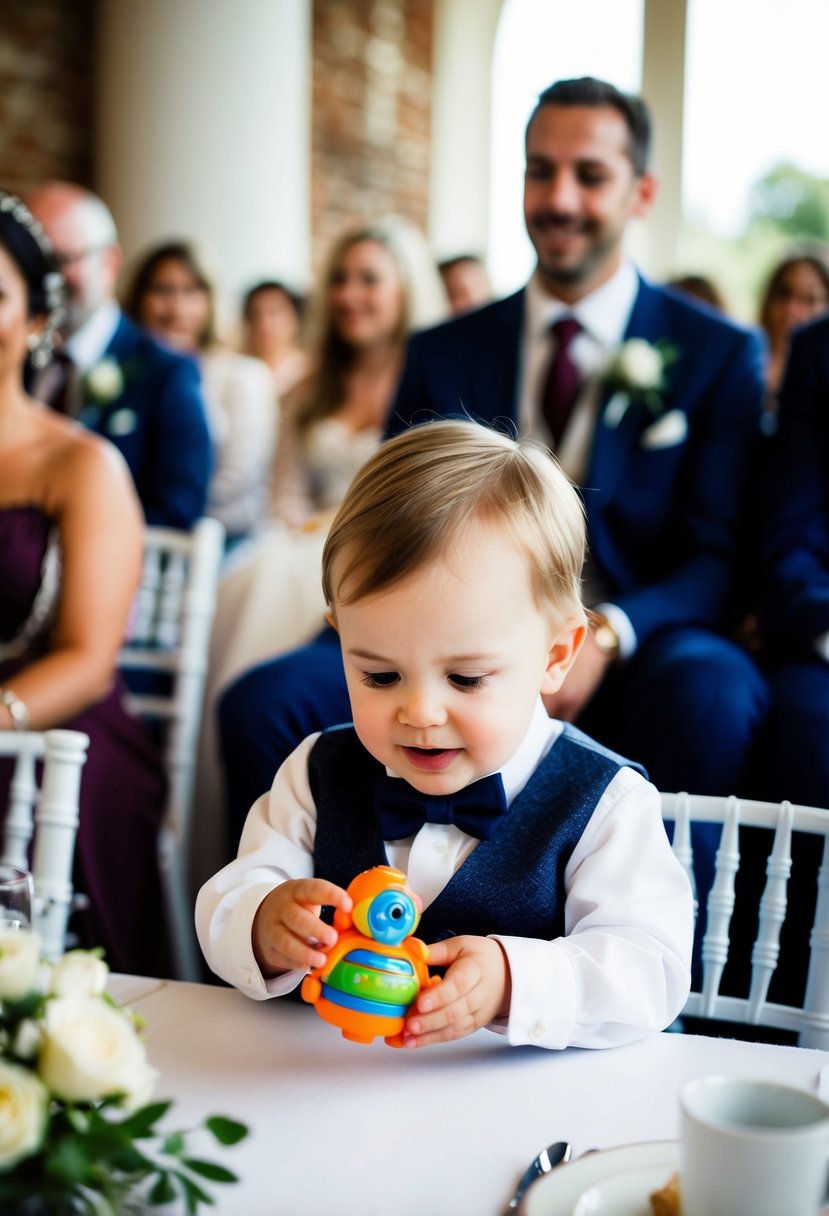
<svg viewBox="0 0 829 1216"><path fill-rule="evenodd" d="M687 0L645 0L642 96L654 118L656 206L639 225L642 266L656 278L677 271L682 227L682 136L686 92Z"/></svg>

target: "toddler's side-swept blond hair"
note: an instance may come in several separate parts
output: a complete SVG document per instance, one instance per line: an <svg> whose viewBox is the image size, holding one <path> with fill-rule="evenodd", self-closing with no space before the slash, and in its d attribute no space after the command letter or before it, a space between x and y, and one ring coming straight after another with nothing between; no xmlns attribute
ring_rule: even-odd
<svg viewBox="0 0 829 1216"><path fill-rule="evenodd" d="M385 590L474 523L497 524L524 548L538 608L583 615L577 491L540 444L462 421L412 427L357 473L322 552L326 602Z"/></svg>

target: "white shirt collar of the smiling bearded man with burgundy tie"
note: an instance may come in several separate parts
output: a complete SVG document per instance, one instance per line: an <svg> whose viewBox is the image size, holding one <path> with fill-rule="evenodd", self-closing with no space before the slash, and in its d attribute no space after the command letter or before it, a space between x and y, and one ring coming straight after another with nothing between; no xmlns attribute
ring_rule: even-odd
<svg viewBox="0 0 829 1216"><path fill-rule="evenodd" d="M621 345L638 289L636 266L626 260L607 283L575 304L565 304L545 291L536 270L526 286L528 332L540 339L559 317L575 316L599 345L615 350Z"/></svg>

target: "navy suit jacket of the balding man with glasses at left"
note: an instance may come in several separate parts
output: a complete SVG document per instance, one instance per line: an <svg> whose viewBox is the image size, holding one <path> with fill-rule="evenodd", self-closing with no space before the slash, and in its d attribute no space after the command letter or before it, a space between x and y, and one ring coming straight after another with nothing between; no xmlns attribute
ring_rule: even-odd
<svg viewBox="0 0 829 1216"><path fill-rule="evenodd" d="M102 358L118 364L124 389L105 404L88 400L79 421L124 456L148 524L191 528L213 466L198 367L123 314Z"/></svg>

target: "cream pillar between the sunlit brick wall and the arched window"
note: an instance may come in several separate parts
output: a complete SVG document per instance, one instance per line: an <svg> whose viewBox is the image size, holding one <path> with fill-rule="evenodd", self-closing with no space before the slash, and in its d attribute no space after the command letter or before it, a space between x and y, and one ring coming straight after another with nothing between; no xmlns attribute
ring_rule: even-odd
<svg viewBox="0 0 829 1216"><path fill-rule="evenodd" d="M492 49L503 0L436 0L429 236L438 258L489 241Z"/></svg>

